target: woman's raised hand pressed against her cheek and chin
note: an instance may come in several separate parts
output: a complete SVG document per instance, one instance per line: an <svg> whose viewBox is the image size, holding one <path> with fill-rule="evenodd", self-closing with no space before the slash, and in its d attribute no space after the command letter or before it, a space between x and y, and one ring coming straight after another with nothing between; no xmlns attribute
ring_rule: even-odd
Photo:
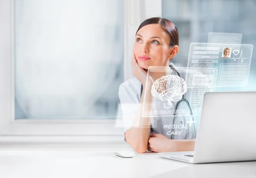
<svg viewBox="0 0 256 178"><path fill-rule="evenodd" d="M154 81L150 77L150 75L148 75L149 76L148 83L146 83L147 72L139 66L134 52L132 52L131 65L132 65L132 75L134 75L134 77L136 77L140 81L140 83L142 83L143 87L145 87L146 84L151 87Z"/></svg>

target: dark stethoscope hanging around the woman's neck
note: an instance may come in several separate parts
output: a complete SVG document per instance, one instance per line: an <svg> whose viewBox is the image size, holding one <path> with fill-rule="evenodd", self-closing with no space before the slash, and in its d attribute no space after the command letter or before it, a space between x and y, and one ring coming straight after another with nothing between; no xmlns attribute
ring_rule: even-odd
<svg viewBox="0 0 256 178"><path fill-rule="evenodd" d="M169 66L170 66L170 68L171 68L174 72L176 72L176 74L181 78L180 73L179 73L173 66L171 66L171 65L169 65ZM140 98L141 98L142 92L143 92L143 85L141 84L141 87L140 87ZM178 108L179 104L180 104L182 101L185 101L186 104L187 104L187 106L188 106L188 108L189 108L189 112L190 112L190 116L191 116L191 118L192 118L192 121L194 121L193 113L192 113L192 109L191 109L191 107L190 107L190 105L189 105L189 101L184 98L184 95L185 95L185 94L183 94L183 95L182 95L182 98L177 102L177 104L176 104L176 106L175 106L175 111L177 111L177 108ZM173 125L174 122L175 122L175 115L176 115L176 112L173 113L172 125ZM194 124L194 122L193 122L193 127L194 127L194 135L195 135L195 124ZM152 125L150 125L150 130L151 130L151 133L154 132L154 131L153 131L153 128L152 128ZM172 131L173 131L173 128L172 128ZM171 133L172 133L172 132L171 132ZM195 136L195 138L196 138L196 136ZM173 135L171 135L171 139L173 139Z"/></svg>

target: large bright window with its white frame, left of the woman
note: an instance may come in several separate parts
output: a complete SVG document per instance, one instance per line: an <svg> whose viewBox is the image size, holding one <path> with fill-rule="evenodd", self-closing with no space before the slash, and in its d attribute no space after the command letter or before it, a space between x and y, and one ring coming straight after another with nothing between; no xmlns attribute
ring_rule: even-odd
<svg viewBox="0 0 256 178"><path fill-rule="evenodd" d="M0 134L122 137L134 35L160 15L154 0L0 1Z"/></svg>

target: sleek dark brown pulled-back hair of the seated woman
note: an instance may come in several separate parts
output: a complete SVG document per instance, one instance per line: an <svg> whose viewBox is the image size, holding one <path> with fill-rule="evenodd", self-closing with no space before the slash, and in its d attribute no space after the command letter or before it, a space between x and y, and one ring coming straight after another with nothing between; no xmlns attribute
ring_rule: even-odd
<svg viewBox="0 0 256 178"><path fill-rule="evenodd" d="M147 20L144 20L143 23L140 24L137 32L143 27L143 26L146 26L146 25L149 25L149 24L159 24L162 29L168 34L169 36L169 39L170 39L170 44L169 46L170 47L173 47L175 45L179 45L179 34L178 34L178 31L177 31L177 28L176 26L170 21L170 20L167 20L165 18L161 18L161 17L152 17L152 18L149 18ZM136 34L137 34L136 32Z"/></svg>

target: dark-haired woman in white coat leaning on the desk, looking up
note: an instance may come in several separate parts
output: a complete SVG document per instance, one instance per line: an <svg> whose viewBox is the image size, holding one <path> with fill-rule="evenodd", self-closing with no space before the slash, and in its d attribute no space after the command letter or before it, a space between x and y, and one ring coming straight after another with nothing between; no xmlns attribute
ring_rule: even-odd
<svg viewBox="0 0 256 178"><path fill-rule="evenodd" d="M175 25L164 18L154 17L140 24L136 36L132 54L132 74L135 78L129 79L119 86L119 98L122 105L125 141L139 153L147 149L153 152L192 151L195 146L195 138L188 127L184 127L186 118L175 118L176 126L183 126L171 139L170 128L173 118L157 118L157 126L150 131L151 118L141 118L140 104L152 103L151 86L155 80L166 74L149 73L149 66L169 67L170 60L179 51L179 37ZM160 75L161 74L161 75ZM147 82L146 82L147 81ZM143 92L140 97L140 86ZM161 101L160 101L161 102ZM125 103L133 103L137 109L125 108ZM163 105L161 105L162 107ZM175 106L175 102L173 103ZM131 114L133 113L133 114ZM143 126L137 127L143 119ZM190 119L190 116L189 116ZM146 120L146 121L145 121ZM180 125L181 124L181 125ZM177 127L176 127L177 129ZM176 133L176 131L175 131Z"/></svg>

